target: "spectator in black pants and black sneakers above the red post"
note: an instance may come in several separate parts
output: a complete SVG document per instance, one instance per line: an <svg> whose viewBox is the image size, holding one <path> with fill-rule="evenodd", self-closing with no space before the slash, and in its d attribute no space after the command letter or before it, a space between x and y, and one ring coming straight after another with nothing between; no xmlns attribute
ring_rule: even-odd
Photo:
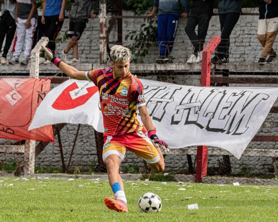
<svg viewBox="0 0 278 222"><path fill-rule="evenodd" d="M216 55L211 59L213 64L229 62L230 35L241 13L241 1L219 0L218 2L221 41L216 48Z"/></svg>

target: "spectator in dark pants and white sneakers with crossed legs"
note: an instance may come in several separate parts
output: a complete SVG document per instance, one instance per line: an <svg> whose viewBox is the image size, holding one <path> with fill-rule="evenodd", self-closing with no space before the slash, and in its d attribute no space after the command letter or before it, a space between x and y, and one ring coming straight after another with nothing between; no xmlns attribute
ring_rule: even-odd
<svg viewBox="0 0 278 222"><path fill-rule="evenodd" d="M189 37L194 51L187 63L201 62L205 36L213 15L214 0L193 0L190 13L187 17L185 33ZM195 28L198 25L198 33Z"/></svg>

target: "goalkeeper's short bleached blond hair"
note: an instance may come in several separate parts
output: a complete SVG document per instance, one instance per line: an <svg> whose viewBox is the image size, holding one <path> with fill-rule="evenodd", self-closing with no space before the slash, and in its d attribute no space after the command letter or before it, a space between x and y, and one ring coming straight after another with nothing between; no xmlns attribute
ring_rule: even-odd
<svg viewBox="0 0 278 222"><path fill-rule="evenodd" d="M124 46L114 45L110 49L110 56L112 62L124 64L130 60L131 52Z"/></svg>

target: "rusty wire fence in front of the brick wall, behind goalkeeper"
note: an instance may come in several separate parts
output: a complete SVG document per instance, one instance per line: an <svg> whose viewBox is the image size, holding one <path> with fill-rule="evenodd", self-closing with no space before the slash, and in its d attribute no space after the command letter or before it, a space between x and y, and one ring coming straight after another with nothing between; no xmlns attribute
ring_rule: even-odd
<svg viewBox="0 0 278 222"><path fill-rule="evenodd" d="M242 15L240 17L230 36L230 61L228 64L216 65L212 69L212 86L277 87L277 60L271 64L260 66L257 64L262 50L256 38L257 19L257 15ZM130 32L132 30L138 33L141 32L142 22L143 19L140 21L134 19L134 21L124 21L123 23L122 37L125 39L123 45L131 49L132 46L136 45L132 50L134 62L131 64L130 71L139 78L180 85L200 86L201 64L185 63L192 53L192 45L184 33L185 21L180 19L177 37L171 54L175 58L173 63L159 66L155 64L155 59L158 56L157 42L134 42L131 39ZM133 25L130 25L130 23ZM66 30L67 28L68 24L65 21L63 29ZM79 55L82 63L75 65L77 69L83 68L84 62L86 64L92 63L93 68L100 68L96 67L96 64L99 64L99 45L98 41L94 40L97 39L98 34L99 26L97 22L89 21L79 41ZM116 42L116 35L117 32L114 27L110 32L110 42ZM211 19L206 42L214 35L220 35L218 16L213 16ZM59 51L65 48L67 43L68 40L57 42L56 52L58 52L58 56L60 55ZM277 50L277 42L274 42L273 48ZM135 54L137 55L135 56ZM109 60L108 56L107 60ZM105 66L108 65L102 65L102 68ZM10 66L9 70L12 70L13 67L16 66ZM88 69L91 68L87 67ZM11 71L7 70L2 70L2 77L12 76ZM18 72L24 73L26 71L23 68L18 69ZM40 77L49 75L55 75L51 84L52 89L58 85L57 82L64 80L60 78L64 75L60 73L58 68L52 65L41 64ZM278 174L276 166L278 141L277 112L276 102L257 132L257 135L250 142L239 160L223 149L209 147L207 175L275 178ZM53 125L53 129L55 143L36 142L35 173L93 173L106 171L102 160L103 136L101 133L97 133L89 125L69 123ZM167 140L167 138L163 139ZM15 174L22 175L25 145L25 141L18 142L0 139L1 169L17 169ZM175 180L179 179L177 175L195 174L196 153L197 147L171 150L165 155L165 172L169 173L169 177L172 175ZM127 151L120 171L138 173L147 172L149 168L142 159L135 157L130 151Z"/></svg>

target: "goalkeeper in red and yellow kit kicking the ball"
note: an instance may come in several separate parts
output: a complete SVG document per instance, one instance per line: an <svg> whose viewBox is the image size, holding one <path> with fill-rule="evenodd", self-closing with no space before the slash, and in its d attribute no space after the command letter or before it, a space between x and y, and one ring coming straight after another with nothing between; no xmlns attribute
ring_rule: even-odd
<svg viewBox="0 0 278 222"><path fill-rule="evenodd" d="M119 174L120 164L125 158L126 149L137 157L143 158L155 171L164 170L163 152L169 146L160 140L146 108L143 85L138 78L129 72L131 53L120 45L111 47L111 68L79 71L62 62L42 46L40 57L46 58L71 78L89 80L99 89L99 99L104 125L104 145L102 158L107 167L109 184L115 199L106 197L105 205L118 212L128 212L124 184ZM137 120L137 107L142 123Z"/></svg>

